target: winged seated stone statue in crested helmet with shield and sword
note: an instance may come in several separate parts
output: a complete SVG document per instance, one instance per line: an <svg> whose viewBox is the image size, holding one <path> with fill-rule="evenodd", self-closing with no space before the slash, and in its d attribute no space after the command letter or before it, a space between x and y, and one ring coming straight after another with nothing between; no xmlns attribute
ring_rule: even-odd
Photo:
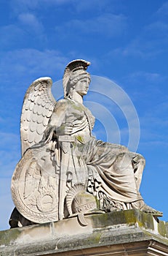
<svg viewBox="0 0 168 256"><path fill-rule="evenodd" d="M64 99L58 102L52 97L51 78L35 80L25 94L22 159L12 176L16 208L11 226L132 208L162 216L139 192L145 159L92 136L95 118L83 105L88 66L79 59L67 65Z"/></svg>

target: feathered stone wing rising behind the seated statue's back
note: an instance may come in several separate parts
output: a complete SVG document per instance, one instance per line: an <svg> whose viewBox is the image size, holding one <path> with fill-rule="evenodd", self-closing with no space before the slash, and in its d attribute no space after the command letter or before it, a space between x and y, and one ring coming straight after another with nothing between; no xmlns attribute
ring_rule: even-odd
<svg viewBox="0 0 168 256"><path fill-rule="evenodd" d="M47 128L56 104L51 87L51 78L39 78L31 84L25 94L20 120L22 154L30 146L39 143Z"/></svg>

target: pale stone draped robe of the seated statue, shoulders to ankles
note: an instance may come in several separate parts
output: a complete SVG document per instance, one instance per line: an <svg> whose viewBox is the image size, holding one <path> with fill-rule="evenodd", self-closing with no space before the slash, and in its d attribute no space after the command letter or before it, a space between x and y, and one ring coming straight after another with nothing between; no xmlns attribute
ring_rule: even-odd
<svg viewBox="0 0 168 256"><path fill-rule="evenodd" d="M71 135L65 137L69 146L60 143L66 159L60 163L65 167L61 170L66 186L87 184L87 191L100 200L100 208L116 204L122 209L132 208L133 202L142 200L139 188L145 159L125 146L96 140L92 136L94 124L94 116L81 103L69 98L57 102L46 134L52 131L52 140L55 137L59 141L64 136L59 131L66 125L72 127Z"/></svg>

